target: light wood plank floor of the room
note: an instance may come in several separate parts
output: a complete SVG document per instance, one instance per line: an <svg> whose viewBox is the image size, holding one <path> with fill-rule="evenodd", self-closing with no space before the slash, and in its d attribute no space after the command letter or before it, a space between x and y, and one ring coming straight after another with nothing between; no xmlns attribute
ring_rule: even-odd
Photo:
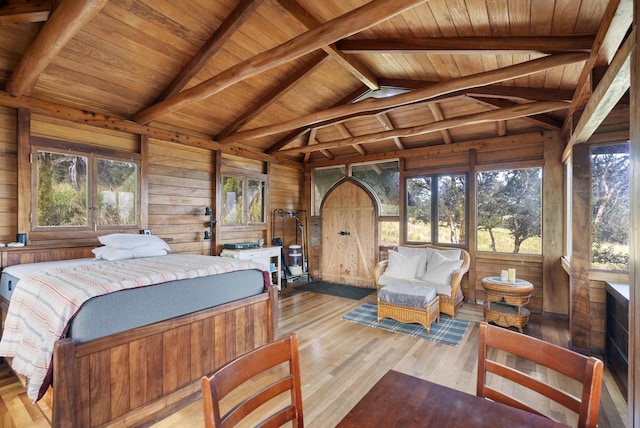
<svg viewBox="0 0 640 428"><path fill-rule="evenodd" d="M287 289L280 297L280 334L296 332L300 341L307 427L334 426L390 369L475 394L482 307L462 306L458 317L473 322L462 343L453 347L340 319L365 302L375 302L375 295L357 301ZM569 337L566 320L539 315L531 316L525 333L559 345L566 345ZM599 427L626 427L626 414L624 397L605 370ZM2 361L0 428L49 427L49 418L49 409L43 411L29 401ZM200 400L152 426L204 426Z"/></svg>

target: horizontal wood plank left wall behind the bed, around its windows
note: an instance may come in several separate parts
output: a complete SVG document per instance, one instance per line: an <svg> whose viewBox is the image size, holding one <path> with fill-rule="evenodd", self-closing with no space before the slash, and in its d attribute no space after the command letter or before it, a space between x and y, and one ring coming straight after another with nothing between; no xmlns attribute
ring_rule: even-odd
<svg viewBox="0 0 640 428"><path fill-rule="evenodd" d="M304 209L301 198L302 167L219 155L215 151L185 146L169 141L141 138L136 134L107 130L90 125L71 123L42 115L31 116L31 135L96 147L109 147L132 153L142 153L142 166L147 186L143 229L150 229L169 241L171 249L180 253L208 254L210 241L204 239L209 217L205 207L216 203L217 180L221 173L235 172L257 176L267 182L265 201L266 222L249 227L214 229L214 254L219 254L226 242L256 241L259 237L271 242L271 217L274 208ZM17 110L0 107L0 242L15 241L18 233L18 161ZM219 220L219 219L218 219ZM28 223L28 219L27 219ZM287 245L295 242L295 222L287 221ZM35 235L34 235L35 236ZM30 244L69 245L50 236L31 239ZM97 245L93 238L74 240L74 245Z"/></svg>

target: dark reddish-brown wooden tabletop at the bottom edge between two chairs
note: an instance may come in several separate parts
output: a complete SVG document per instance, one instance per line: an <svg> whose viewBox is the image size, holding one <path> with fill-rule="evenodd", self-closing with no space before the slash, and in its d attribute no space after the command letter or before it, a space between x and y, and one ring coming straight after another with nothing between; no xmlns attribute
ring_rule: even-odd
<svg viewBox="0 0 640 428"><path fill-rule="evenodd" d="M543 416L393 370L388 371L337 426L566 427Z"/></svg>

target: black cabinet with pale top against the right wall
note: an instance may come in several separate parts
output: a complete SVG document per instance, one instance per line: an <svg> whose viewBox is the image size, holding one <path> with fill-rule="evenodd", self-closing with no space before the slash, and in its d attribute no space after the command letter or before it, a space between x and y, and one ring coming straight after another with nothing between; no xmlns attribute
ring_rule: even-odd
<svg viewBox="0 0 640 428"><path fill-rule="evenodd" d="M629 372L629 284L606 282L605 362L627 398Z"/></svg>

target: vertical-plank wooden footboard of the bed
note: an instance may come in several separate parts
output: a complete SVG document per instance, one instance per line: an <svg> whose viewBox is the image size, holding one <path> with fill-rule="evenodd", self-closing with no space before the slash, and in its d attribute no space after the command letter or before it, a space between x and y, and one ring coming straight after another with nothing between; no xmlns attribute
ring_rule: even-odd
<svg viewBox="0 0 640 428"><path fill-rule="evenodd" d="M74 344L56 343L54 427L146 426L199 397L198 380L277 338L277 289Z"/></svg>

